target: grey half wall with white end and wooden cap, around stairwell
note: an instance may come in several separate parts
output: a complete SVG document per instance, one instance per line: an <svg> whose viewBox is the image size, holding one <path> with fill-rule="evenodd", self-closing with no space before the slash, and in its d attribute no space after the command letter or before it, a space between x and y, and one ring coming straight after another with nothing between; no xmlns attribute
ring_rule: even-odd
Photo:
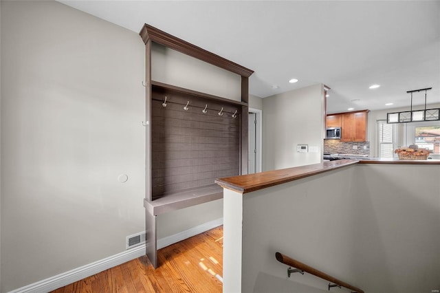
<svg viewBox="0 0 440 293"><path fill-rule="evenodd" d="M217 180L223 292L327 289L311 275L287 279L276 252L365 292L432 290L440 279L439 179L439 161L337 160Z"/></svg>

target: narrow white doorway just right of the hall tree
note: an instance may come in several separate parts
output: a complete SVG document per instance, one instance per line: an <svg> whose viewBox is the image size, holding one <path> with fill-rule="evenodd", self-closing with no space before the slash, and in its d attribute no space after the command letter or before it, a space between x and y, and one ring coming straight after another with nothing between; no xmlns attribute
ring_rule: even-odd
<svg viewBox="0 0 440 293"><path fill-rule="evenodd" d="M259 173L262 169L262 113L260 109L249 109L248 174Z"/></svg>

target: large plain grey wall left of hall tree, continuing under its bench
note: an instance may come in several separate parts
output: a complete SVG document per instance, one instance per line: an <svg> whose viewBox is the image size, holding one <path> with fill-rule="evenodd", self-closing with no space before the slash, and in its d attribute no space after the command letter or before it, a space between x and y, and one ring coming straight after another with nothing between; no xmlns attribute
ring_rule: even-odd
<svg viewBox="0 0 440 293"><path fill-rule="evenodd" d="M135 32L56 1L1 1L1 292L144 231L144 58ZM222 208L161 216L158 236Z"/></svg>

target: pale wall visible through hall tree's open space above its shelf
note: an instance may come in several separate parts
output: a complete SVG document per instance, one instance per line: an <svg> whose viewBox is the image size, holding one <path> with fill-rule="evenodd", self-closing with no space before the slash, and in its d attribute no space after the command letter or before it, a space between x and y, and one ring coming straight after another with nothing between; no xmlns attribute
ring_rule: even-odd
<svg viewBox="0 0 440 293"><path fill-rule="evenodd" d="M241 101L241 76L153 43L151 79Z"/></svg>

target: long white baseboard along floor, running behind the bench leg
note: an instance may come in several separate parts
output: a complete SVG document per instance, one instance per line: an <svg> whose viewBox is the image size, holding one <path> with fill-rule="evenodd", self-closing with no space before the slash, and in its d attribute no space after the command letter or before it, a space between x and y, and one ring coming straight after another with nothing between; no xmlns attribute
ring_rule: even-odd
<svg viewBox="0 0 440 293"><path fill-rule="evenodd" d="M208 231L212 228L216 228L218 226L223 225L223 218L215 219L213 221L209 221L208 223L201 224L199 226L190 228L188 230L179 232L175 235L171 235L168 237L164 237L162 239L157 240L157 249L164 248L173 243L177 243L189 237L198 235L202 232ZM88 265L83 265L80 268L76 268L74 270L69 270L69 272L64 272L62 274L57 274L56 276L52 276L50 278L44 279L42 281L38 281L36 283L32 283L30 285L18 288L16 290L12 290L9 293L46 293L52 290L58 289L59 287L64 287L65 285L69 285L76 281L80 281L87 276L92 276L94 274L98 274L98 272L102 272L104 270L108 270L109 268L113 268L116 265L120 265L122 263L126 263L127 261L131 261L132 259L137 259L137 257L142 257L145 255L145 244L140 246L136 246L124 252L120 252L111 257L107 257L105 259L101 259L100 261L95 261L94 263L89 263Z"/></svg>

